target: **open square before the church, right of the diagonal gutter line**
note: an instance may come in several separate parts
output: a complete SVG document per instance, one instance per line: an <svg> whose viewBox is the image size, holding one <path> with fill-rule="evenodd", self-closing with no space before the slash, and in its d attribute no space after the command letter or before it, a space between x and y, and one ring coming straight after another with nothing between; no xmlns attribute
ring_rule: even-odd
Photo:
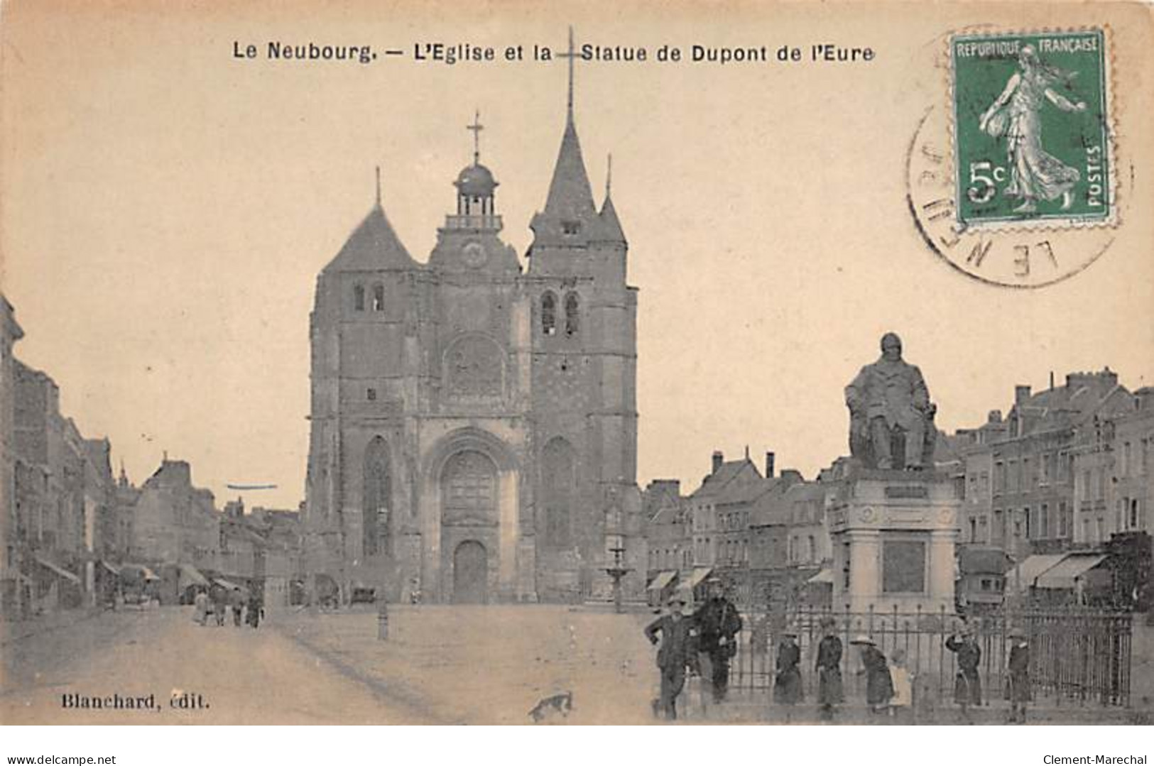
<svg viewBox="0 0 1154 766"><path fill-rule="evenodd" d="M279 614L270 624L334 664L444 723L523 724L541 699L572 694L572 713L562 719L579 724L657 722L654 649L642 628L649 614L614 615L602 610L553 606L396 607L389 611L390 637L377 640L376 614L339 611L320 615ZM679 699L679 722L744 724L820 724L816 706L792 709L770 704L765 691L730 691L721 706L702 716L696 683ZM979 726L1006 723L1002 700L973 712ZM560 722L560 721L559 721ZM961 724L950 703L914 721L870 713L862 704L838 709L835 724ZM1149 724L1148 709L1087 704L1054 705L1039 700L1029 724Z"/></svg>

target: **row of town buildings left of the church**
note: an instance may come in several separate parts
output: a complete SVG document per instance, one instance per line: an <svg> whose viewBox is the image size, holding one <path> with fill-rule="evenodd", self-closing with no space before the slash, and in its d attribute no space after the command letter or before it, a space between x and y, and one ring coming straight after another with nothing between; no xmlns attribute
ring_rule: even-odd
<svg viewBox="0 0 1154 766"><path fill-rule="evenodd" d="M227 503L167 456L142 485L112 471L107 438L85 438L60 390L18 360L23 337L2 309L0 598L6 618L126 598L177 602L213 580L287 603L302 579L299 513ZM297 588L299 591L299 588Z"/></svg>

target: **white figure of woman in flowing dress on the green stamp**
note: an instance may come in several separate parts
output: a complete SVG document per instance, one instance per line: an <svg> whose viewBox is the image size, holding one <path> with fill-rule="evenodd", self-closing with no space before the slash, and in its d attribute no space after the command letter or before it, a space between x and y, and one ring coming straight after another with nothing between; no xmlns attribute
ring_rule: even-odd
<svg viewBox="0 0 1154 766"><path fill-rule="evenodd" d="M1085 112L1086 104L1074 104L1054 90L1054 85L1069 82L1073 74L1042 63L1034 46L1022 46L1018 63L1020 70L1010 77L1002 95L982 113L979 128L996 138L1006 138L1010 185L1005 194L1022 201L1014 212L1034 212L1037 200L1049 202L1059 197L1062 209L1069 210L1079 174L1042 149L1040 112L1043 99L1064 112Z"/></svg>

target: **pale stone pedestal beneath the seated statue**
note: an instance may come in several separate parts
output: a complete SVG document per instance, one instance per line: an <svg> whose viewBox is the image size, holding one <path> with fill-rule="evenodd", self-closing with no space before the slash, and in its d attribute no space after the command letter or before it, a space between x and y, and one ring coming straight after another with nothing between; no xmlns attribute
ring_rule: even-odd
<svg viewBox="0 0 1154 766"><path fill-rule="evenodd" d="M827 509L834 609L953 611L960 506L945 474L850 471Z"/></svg>

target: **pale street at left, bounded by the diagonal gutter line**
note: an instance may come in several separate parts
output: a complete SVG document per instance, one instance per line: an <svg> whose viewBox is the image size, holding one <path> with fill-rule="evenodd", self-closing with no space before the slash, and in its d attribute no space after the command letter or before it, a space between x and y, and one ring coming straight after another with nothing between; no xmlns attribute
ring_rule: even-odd
<svg viewBox="0 0 1154 766"><path fill-rule="evenodd" d="M104 613L6 643L2 653L5 724L433 722L276 630L202 628L188 608ZM174 692L200 694L207 707L175 709ZM66 693L155 694L159 709L65 709Z"/></svg>

